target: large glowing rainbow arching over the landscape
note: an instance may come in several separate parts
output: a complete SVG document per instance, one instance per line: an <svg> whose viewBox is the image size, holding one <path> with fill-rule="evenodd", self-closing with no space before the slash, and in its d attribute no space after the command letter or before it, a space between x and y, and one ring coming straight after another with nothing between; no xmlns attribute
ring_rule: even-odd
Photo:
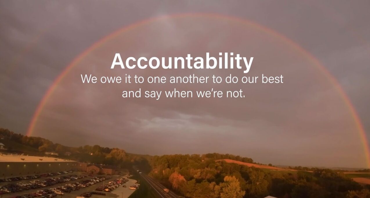
<svg viewBox="0 0 370 198"><path fill-rule="evenodd" d="M54 90L58 87L58 84L63 80L64 76L67 75L68 72L70 72L70 70L73 69L73 67L75 65L77 65L77 63L79 63L82 59L84 59L84 57L86 55L88 55L91 51L93 51L94 49L97 49L103 43L105 43L108 40L116 37L118 34L120 34L122 32L127 32L129 30L135 29L136 27L139 27L139 26L142 26L142 25L145 25L145 24L157 21L157 20L168 19L168 18L173 18L173 17L212 17L212 18L219 18L219 19L228 19L228 20L232 20L232 21L239 22L239 23L242 23L242 24L247 24L247 25L255 27L256 29L262 30L263 32L266 32L266 33L270 34L271 36L276 37L277 39L281 39L284 42L289 43L298 52L300 52L300 53L302 53L302 55L306 56L308 58L308 60L310 60L313 63L313 65L315 65L317 67L317 69L319 69L320 72L322 72L329 79L329 82L334 86L334 88L337 90L337 92L342 97L344 103L347 105L347 107L349 109L349 112L351 113L351 116L353 118L353 121L356 124L356 128L359 131L359 136L360 136L360 139L361 139L361 143L363 145L367 167L370 168L369 143L367 141L366 133L365 133L365 130L364 130L363 125L361 123L361 120L359 118L359 115L357 114L357 112L356 112L354 106L352 105L349 97L344 92L343 88L340 86L339 82L335 79L335 77L333 75L330 74L330 72L323 65L321 65L321 63L314 56L312 56L309 52L307 52L305 49L303 49L297 43L295 43L292 40L286 38L285 36L275 32L274 30L268 29L267 27L260 26L259 24L253 23L249 20L239 19L237 17L223 16L223 15L220 15L220 14L210 14L210 13L206 13L206 14L205 13L185 13L185 14L174 14L174 15L159 16L159 17L150 18L150 19L143 20L143 21L131 24L129 26L120 28L120 29L116 30L115 32L109 34L108 36L103 37L98 42L95 42L90 47L88 47L84 52L80 53L80 55L75 57L72 60L72 62L63 70L63 72L61 72L60 75L54 80L53 84L50 86L50 88L47 90L47 92L45 93L45 95L41 99L40 103L38 104L38 106L37 106L37 108L36 108L36 110L33 114L33 117L30 121L30 124L28 126L26 135L31 136L33 134L35 125L37 123L37 120L38 120L41 112L43 111L43 108L44 108L45 104L47 103L48 99L53 94Z"/></svg>

